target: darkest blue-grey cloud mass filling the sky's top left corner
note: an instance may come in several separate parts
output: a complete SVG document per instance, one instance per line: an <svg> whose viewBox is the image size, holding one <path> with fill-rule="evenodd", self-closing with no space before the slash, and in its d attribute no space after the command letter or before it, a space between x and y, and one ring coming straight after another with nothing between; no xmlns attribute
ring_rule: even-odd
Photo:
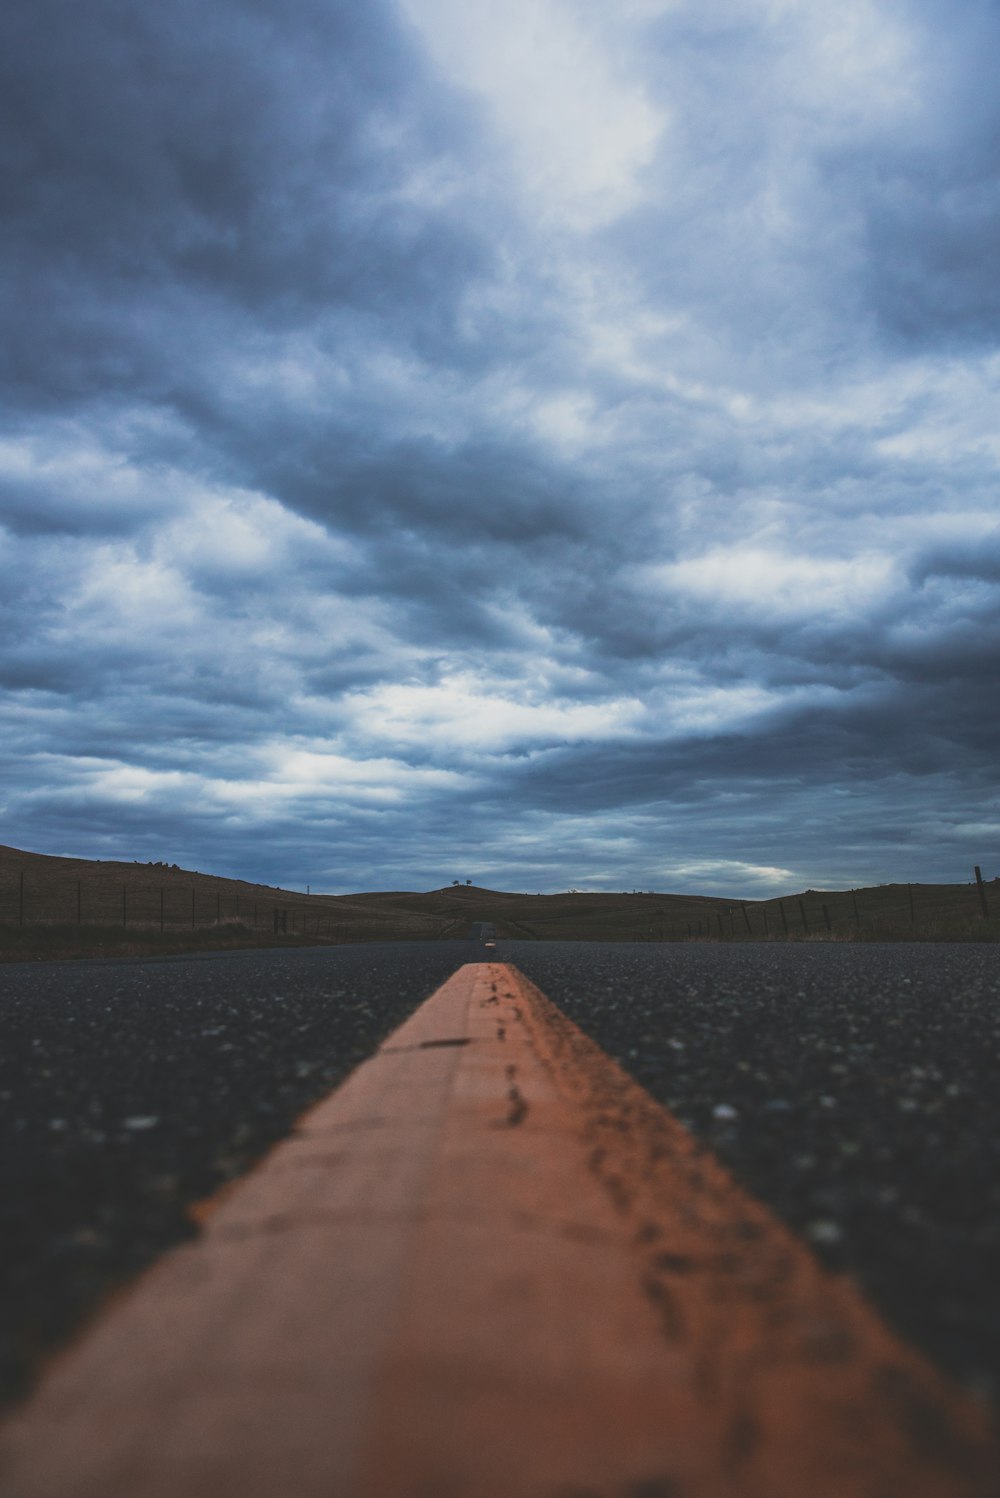
<svg viewBox="0 0 1000 1498"><path fill-rule="evenodd" d="M475 132L382 4L60 0L6 12L7 380L36 400L204 379L214 340L452 316L490 258L407 199Z"/></svg>

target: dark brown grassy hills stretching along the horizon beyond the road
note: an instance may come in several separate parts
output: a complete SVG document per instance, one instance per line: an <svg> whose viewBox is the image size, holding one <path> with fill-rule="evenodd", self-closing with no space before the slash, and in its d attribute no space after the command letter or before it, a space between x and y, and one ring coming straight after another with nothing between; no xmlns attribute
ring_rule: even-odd
<svg viewBox="0 0 1000 1498"><path fill-rule="evenodd" d="M147 954L464 936L491 921L528 941L997 941L1000 881L805 890L769 900L698 894L302 894L151 863L0 846L0 959Z"/></svg>

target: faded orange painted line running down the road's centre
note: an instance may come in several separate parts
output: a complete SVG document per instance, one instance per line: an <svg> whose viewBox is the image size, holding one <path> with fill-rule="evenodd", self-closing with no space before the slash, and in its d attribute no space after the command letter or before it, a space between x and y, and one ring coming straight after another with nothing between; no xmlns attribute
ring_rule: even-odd
<svg viewBox="0 0 1000 1498"><path fill-rule="evenodd" d="M981 1413L469 965L51 1369L4 1498L984 1498Z"/></svg>

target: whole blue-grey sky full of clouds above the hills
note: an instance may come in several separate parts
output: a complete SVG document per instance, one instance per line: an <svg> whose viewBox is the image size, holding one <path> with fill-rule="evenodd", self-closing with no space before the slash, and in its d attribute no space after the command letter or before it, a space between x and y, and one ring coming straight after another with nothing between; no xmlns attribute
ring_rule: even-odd
<svg viewBox="0 0 1000 1498"><path fill-rule="evenodd" d="M0 842L1000 872L996 0L0 31Z"/></svg>

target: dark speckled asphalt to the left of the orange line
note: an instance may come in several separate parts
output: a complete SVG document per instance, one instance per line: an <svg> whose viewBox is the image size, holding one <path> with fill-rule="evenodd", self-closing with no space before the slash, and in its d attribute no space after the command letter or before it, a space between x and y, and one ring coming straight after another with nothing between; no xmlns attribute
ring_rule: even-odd
<svg viewBox="0 0 1000 1498"><path fill-rule="evenodd" d="M470 956L406 942L0 971L0 1399Z"/></svg>

